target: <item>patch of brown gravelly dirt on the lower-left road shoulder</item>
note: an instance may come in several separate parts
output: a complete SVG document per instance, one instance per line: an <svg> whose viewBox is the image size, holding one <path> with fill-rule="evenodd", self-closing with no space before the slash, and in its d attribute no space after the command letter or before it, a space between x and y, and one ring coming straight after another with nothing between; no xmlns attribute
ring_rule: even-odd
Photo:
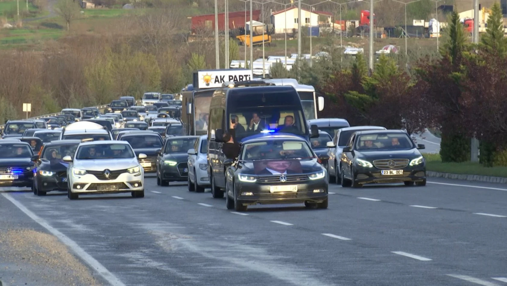
<svg viewBox="0 0 507 286"><path fill-rule="evenodd" d="M0 259L17 267L9 272L27 272L30 280L35 278L40 283L100 285L88 267L74 257L63 243L43 232L18 229L0 233ZM9 281L9 278L4 276L4 282L21 282Z"/></svg>

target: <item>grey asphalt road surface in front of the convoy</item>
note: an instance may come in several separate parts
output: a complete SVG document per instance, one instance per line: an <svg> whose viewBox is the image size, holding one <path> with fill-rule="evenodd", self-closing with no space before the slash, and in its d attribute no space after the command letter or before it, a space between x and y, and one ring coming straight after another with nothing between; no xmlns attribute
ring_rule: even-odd
<svg viewBox="0 0 507 286"><path fill-rule="evenodd" d="M146 186L144 198L75 201L3 192L0 222L57 235L77 258L62 264L79 269L82 285L507 285L507 185L332 185L328 210L268 205L245 213L228 211L209 190L159 187L155 178ZM8 247L5 239L0 246ZM13 264L6 260L0 256L0 266ZM46 276L68 275L54 269ZM0 273L8 285L68 284Z"/></svg>

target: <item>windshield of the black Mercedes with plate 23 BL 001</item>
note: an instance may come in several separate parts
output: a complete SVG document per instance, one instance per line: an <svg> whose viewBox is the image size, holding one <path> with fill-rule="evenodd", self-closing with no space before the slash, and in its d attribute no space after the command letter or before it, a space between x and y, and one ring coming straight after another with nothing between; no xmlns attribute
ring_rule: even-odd
<svg viewBox="0 0 507 286"><path fill-rule="evenodd" d="M403 133L381 133L359 135L356 139L355 149L366 151L389 151L392 149L412 149L414 143Z"/></svg>

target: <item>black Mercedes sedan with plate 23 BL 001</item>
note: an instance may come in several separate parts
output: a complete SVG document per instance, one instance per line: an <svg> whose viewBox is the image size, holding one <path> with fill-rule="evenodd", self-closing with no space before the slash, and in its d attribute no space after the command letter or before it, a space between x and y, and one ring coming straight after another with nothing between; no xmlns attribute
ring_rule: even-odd
<svg viewBox="0 0 507 286"><path fill-rule="evenodd" d="M359 131L352 135L341 157L342 186L369 183L426 185L426 162L407 132L402 130Z"/></svg>

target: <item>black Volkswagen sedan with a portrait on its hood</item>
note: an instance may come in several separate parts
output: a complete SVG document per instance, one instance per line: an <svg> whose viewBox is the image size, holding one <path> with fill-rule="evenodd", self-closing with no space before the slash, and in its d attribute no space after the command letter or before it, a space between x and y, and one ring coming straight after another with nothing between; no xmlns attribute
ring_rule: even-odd
<svg viewBox="0 0 507 286"><path fill-rule="evenodd" d="M243 142L237 160L226 159L227 209L249 205L305 203L328 208L328 174L308 142L297 136L263 136Z"/></svg>

